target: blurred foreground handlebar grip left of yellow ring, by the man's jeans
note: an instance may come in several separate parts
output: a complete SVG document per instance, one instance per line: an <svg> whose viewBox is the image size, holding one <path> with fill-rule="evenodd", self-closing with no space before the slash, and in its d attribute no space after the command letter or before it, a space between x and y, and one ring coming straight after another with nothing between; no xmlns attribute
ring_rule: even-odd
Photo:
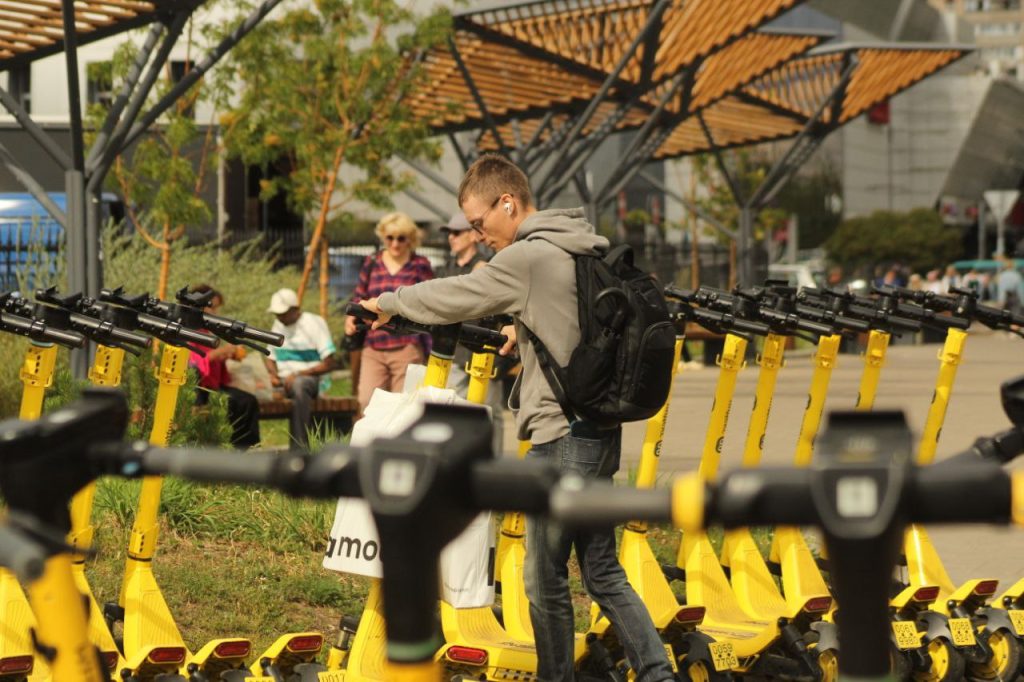
<svg viewBox="0 0 1024 682"><path fill-rule="evenodd" d="M551 492L550 517L566 525L604 527L633 519L672 521L672 488L635 488L589 483L564 476Z"/></svg>

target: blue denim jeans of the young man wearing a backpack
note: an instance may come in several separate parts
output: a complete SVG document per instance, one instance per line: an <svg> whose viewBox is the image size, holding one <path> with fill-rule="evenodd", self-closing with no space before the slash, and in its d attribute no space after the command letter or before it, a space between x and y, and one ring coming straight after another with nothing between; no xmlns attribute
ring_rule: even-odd
<svg viewBox="0 0 1024 682"><path fill-rule="evenodd" d="M579 426L574 425L574 426ZM562 471L611 478L618 469L622 429L566 435L534 445L526 457L544 459ZM608 616L626 648L637 682L675 680L669 657L647 608L626 580L615 552L614 528L566 530L543 517L526 519L526 596L542 682L571 682L575 627L569 595L568 559L575 547L584 587Z"/></svg>

